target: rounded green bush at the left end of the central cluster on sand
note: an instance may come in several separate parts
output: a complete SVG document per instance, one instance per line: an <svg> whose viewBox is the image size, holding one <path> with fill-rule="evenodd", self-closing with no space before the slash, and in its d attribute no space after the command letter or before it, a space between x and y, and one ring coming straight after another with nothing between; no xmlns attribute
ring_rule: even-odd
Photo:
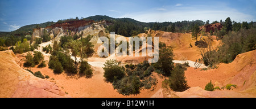
<svg viewBox="0 0 256 109"><path fill-rule="evenodd" d="M117 60L107 60L104 66L104 77L106 81L113 82L115 79L121 80L125 76L125 68L121 67Z"/></svg>

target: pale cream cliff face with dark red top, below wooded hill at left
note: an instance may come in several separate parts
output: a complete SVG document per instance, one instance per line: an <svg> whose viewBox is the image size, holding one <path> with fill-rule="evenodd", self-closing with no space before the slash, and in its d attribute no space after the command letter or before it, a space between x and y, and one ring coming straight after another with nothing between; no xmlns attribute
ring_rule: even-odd
<svg viewBox="0 0 256 109"><path fill-rule="evenodd" d="M59 41L61 37L66 35L74 36L75 34L77 34L78 36L82 36L83 38L91 35L93 37L90 42L92 42L94 45L94 51L97 51L98 46L101 45L97 43L98 38L102 36L110 37L110 34L105 32L106 25L108 25L108 23L105 20L98 23L94 23L94 21L91 20L69 21L63 24L56 23L47 28L34 29L31 43L35 42L35 38L40 38L44 34L47 34L51 37L50 43L52 43L54 40ZM40 45L40 48L42 47L44 46Z"/></svg>

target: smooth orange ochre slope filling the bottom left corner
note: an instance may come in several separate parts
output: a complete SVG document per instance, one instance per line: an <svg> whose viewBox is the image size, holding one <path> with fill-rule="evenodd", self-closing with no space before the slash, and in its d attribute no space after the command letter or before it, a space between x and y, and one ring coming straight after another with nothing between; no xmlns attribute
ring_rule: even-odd
<svg viewBox="0 0 256 109"><path fill-rule="evenodd" d="M0 97L69 97L52 82L21 68L13 51L0 51Z"/></svg>

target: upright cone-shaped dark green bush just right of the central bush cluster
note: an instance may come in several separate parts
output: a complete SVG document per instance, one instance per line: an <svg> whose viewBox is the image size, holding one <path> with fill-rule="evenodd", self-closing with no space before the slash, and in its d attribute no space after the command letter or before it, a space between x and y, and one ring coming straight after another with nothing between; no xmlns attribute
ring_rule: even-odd
<svg viewBox="0 0 256 109"><path fill-rule="evenodd" d="M185 80L184 68L181 65L175 66L171 71L170 76L170 88L174 91L185 91L189 88L187 81Z"/></svg>

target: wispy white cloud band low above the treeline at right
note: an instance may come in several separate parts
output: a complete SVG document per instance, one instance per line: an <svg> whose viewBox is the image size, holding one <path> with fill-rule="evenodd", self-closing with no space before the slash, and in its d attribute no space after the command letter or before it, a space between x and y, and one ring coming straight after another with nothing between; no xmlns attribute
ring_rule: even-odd
<svg viewBox="0 0 256 109"><path fill-rule="evenodd" d="M202 7L203 8L203 7ZM167 11L147 11L147 12L136 12L130 13L129 15L125 15L126 18L132 18L142 22L164 22L164 21L183 21L183 20L203 20L210 22L212 21L219 21L220 19L225 20L226 18L230 17L231 20L234 21L255 21L255 17L250 14L244 14L240 11L237 11L234 8L221 8L216 9L212 8L204 10L195 7L185 7L185 8L173 8L172 10Z"/></svg>

